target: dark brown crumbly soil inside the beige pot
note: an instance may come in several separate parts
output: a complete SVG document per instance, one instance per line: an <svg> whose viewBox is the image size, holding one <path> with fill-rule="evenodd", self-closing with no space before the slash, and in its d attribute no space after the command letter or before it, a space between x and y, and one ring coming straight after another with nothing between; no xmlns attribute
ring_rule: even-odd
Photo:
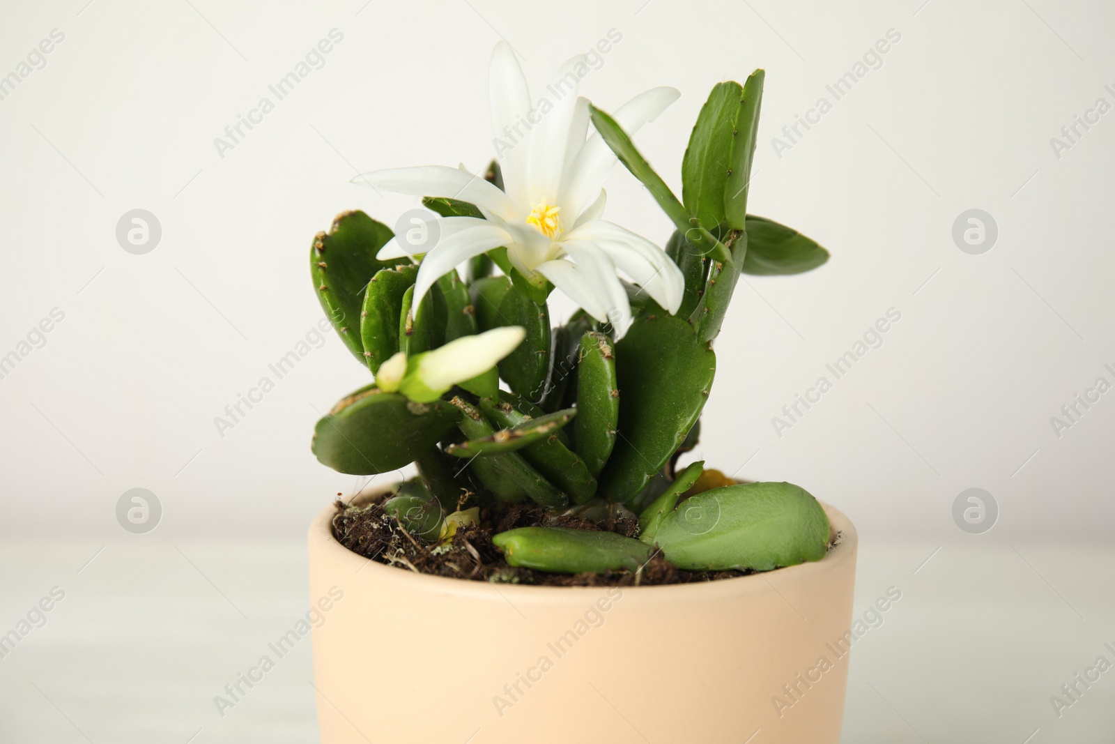
<svg viewBox="0 0 1115 744"><path fill-rule="evenodd" d="M389 495L389 494L385 494ZM481 524L494 524L495 530L478 525L462 528L445 545L426 544L399 528L384 513L379 503L349 506L336 502L333 535L355 553L380 563L418 573L453 579L524 583L550 587L630 587L668 583L717 581L746 576L752 571L683 571L662 555L656 554L638 571L609 571L568 576L507 566L503 554L492 543L492 535L520 526L570 526L584 530L610 530L634 537L636 520L618 519L597 524L578 516L547 516L541 506L530 504L494 504L481 510Z"/></svg>

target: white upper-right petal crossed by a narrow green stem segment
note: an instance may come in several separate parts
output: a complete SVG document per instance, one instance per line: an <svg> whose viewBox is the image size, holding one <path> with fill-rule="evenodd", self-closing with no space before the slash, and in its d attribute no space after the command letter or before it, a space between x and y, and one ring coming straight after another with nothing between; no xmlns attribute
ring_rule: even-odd
<svg viewBox="0 0 1115 744"><path fill-rule="evenodd" d="M620 106L613 118L624 132L633 135L643 124L653 122L680 95L676 88L651 88ZM562 183L560 204L568 214L566 219L580 215L615 162L615 155L599 134L589 137Z"/></svg>

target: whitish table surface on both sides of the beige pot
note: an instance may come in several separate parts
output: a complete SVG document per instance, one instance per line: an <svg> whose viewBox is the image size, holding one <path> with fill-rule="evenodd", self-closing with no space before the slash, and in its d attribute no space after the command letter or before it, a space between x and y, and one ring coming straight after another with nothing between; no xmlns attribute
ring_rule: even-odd
<svg viewBox="0 0 1115 744"><path fill-rule="evenodd" d="M153 535L0 544L0 635L65 592L0 658L0 741L317 742L308 638L214 704L306 612L303 542ZM863 540L856 616L891 587L852 651L844 742L1115 742L1115 670L1050 702L1115 661L1115 548Z"/></svg>

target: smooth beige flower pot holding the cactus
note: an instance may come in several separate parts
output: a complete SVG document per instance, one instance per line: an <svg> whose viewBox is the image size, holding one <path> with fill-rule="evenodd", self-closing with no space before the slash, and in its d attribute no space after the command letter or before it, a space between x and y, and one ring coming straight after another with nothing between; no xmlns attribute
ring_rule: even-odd
<svg viewBox="0 0 1115 744"><path fill-rule="evenodd" d="M421 576L310 528L322 744L840 741L856 534L824 560L700 584ZM328 607L328 609L326 609Z"/></svg>

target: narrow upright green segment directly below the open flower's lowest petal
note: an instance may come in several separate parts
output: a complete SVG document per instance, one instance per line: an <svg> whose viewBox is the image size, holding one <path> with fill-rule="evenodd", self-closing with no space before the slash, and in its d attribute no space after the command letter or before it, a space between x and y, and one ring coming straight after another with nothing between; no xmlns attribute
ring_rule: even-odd
<svg viewBox="0 0 1115 744"><path fill-rule="evenodd" d="M615 446L620 392L615 381L615 350L608 336L589 331L581 337L576 366L576 454L599 476Z"/></svg>

